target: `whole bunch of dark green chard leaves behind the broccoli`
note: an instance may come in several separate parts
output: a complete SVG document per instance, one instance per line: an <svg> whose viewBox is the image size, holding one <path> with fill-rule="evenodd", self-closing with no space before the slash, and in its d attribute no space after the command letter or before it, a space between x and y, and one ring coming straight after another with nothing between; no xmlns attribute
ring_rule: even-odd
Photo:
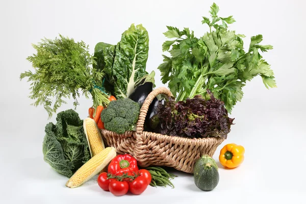
<svg viewBox="0 0 306 204"><path fill-rule="evenodd" d="M175 34L175 29L172 34ZM145 71L148 45L148 32L141 24L136 27L132 24L123 32L121 41L117 45L102 42L96 45L97 67L106 73L102 87L107 92L111 92L116 98L127 98L141 80L154 83L154 79ZM168 48L165 50L168 50L171 44L166 46Z"/></svg>

